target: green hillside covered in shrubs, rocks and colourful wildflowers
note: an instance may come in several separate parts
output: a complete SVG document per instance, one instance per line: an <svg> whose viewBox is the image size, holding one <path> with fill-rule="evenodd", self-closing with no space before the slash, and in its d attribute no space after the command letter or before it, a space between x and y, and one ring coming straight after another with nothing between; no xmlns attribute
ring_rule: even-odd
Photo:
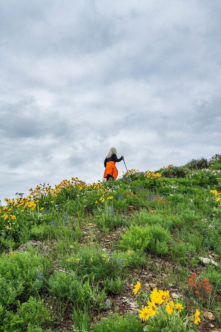
<svg viewBox="0 0 221 332"><path fill-rule="evenodd" d="M0 207L0 331L221 328L221 155L29 191Z"/></svg>

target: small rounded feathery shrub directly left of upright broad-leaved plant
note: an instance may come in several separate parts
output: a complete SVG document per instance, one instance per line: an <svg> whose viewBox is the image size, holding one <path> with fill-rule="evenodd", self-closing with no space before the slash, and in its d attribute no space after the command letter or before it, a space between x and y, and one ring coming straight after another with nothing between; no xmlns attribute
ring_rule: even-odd
<svg viewBox="0 0 221 332"><path fill-rule="evenodd" d="M58 298L67 297L72 301L74 301L78 295L80 284L81 283L74 272L70 274L55 271L55 274L48 279L49 293L52 296Z"/></svg>

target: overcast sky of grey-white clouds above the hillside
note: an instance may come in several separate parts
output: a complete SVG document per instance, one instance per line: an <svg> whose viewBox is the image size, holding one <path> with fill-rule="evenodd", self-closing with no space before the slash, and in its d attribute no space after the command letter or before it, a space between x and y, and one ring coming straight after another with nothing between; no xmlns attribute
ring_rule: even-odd
<svg viewBox="0 0 221 332"><path fill-rule="evenodd" d="M220 0L0 4L0 200L221 153ZM116 164L119 176L123 161Z"/></svg>

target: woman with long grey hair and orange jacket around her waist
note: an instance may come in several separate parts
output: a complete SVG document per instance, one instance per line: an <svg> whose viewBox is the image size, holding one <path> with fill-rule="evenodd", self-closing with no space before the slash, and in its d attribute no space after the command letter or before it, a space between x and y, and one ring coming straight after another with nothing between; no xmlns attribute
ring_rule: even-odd
<svg viewBox="0 0 221 332"><path fill-rule="evenodd" d="M112 147L110 151L108 152L105 160L104 160L104 178L106 178L107 181L110 179L116 180L118 176L118 170L115 166L116 162L119 162L124 159L124 156L121 156L119 159L117 158L117 150L115 147Z"/></svg>

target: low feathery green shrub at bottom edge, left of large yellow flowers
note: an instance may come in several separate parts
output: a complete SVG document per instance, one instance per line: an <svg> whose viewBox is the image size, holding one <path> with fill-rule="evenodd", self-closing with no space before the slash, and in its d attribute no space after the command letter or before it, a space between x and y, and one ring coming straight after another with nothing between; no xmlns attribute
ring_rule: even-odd
<svg viewBox="0 0 221 332"><path fill-rule="evenodd" d="M96 323L92 329L93 332L143 332L143 325L134 315L126 315L125 317L108 316L102 322Z"/></svg>

